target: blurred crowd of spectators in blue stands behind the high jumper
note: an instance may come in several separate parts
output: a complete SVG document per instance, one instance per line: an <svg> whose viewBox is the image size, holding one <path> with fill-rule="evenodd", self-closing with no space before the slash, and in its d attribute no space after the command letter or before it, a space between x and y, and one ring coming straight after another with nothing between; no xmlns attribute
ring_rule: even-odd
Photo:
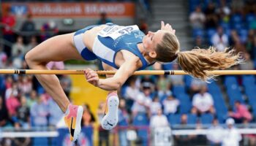
<svg viewBox="0 0 256 146"><path fill-rule="evenodd" d="M7 15L1 18L1 27L6 43L0 47L0 68L28 69L24 55L39 42L59 34L59 29L54 22L45 22L38 35L33 16L27 15L20 30L14 31L15 16L10 9L5 10ZM246 64L235 66L233 69L255 69L255 1L190 0L188 17L192 25L195 46L205 48L213 45L220 51L225 50L225 47L234 47L237 52L244 52ZM102 12L101 18L95 24L110 22L112 20ZM138 26L147 33L146 20L140 19ZM50 62L48 68L64 69L64 63ZM149 69L180 68L177 64L154 64ZM72 81L67 75L58 77L64 92L69 97ZM253 87L252 91L255 90L255 77L249 78L248 82L252 84L246 82L247 78L222 77L219 78L218 83L213 81L211 84L206 84L184 75L130 77L119 91L120 145L129 145L127 139L129 126L138 127L138 143L143 145L147 145L148 129L154 132L155 128L169 126L206 128L211 125L212 132L207 135L207 139L212 145L220 145L222 142L225 144L230 139L241 141L241 134L238 134L234 124L241 123L244 128L249 128L249 123L255 122L256 115L256 104L249 98L251 92L245 89L249 85ZM223 88L227 90L228 101L222 96ZM236 93L237 91L239 92ZM62 117L59 107L32 75L0 75L0 93L1 127L17 129L55 127ZM238 94L241 96L237 96ZM233 96L237 97L233 98ZM87 104L83 107L85 112L82 125L92 126L96 118L91 114ZM102 101L97 110L97 119L102 119L104 113L105 102ZM231 129L229 133L226 134L219 123L226 123L227 129ZM109 144L110 132L99 127L99 145ZM233 137L228 137L230 135ZM200 137L196 135L174 137L181 145L189 145L193 139L198 138ZM256 145L254 134L245 134L243 139L244 145ZM233 145L236 145L236 142Z"/></svg>

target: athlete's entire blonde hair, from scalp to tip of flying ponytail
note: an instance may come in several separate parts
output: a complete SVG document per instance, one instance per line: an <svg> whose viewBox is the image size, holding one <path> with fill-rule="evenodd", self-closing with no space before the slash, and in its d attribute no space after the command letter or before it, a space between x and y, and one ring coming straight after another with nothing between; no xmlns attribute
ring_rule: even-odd
<svg viewBox="0 0 256 146"><path fill-rule="evenodd" d="M193 77L208 81L213 79L214 74L206 71L227 69L230 66L240 64L243 59L241 53L233 50L218 52L216 48L200 49L196 47L190 51L180 52L180 45L176 35L166 33L162 42L157 45L157 61L170 62L177 58L178 64L184 72Z"/></svg>

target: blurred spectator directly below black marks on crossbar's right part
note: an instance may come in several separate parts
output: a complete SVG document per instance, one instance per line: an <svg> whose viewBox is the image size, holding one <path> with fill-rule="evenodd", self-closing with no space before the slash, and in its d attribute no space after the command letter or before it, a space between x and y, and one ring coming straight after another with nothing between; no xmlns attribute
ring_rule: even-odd
<svg viewBox="0 0 256 146"><path fill-rule="evenodd" d="M165 75L159 75L157 80L157 90L159 98L162 98L162 96L170 95L170 81L167 80Z"/></svg>

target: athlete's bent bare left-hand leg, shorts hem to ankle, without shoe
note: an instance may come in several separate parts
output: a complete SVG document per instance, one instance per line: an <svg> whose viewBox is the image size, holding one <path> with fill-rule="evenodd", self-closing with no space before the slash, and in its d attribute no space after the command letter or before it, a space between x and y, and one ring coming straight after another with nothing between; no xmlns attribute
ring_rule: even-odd
<svg viewBox="0 0 256 146"><path fill-rule="evenodd" d="M52 37L30 50L25 57L30 69L47 69L46 64L50 61L82 59L72 45L72 36L73 34L64 34ZM61 88L58 77L54 74L37 74L36 77L62 112L66 112L69 100Z"/></svg>

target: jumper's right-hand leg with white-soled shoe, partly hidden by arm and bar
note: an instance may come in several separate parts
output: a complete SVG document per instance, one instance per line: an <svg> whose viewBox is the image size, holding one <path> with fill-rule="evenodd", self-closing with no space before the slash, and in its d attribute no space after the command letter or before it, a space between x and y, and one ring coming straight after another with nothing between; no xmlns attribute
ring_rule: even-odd
<svg viewBox="0 0 256 146"><path fill-rule="evenodd" d="M108 66L108 64L102 63L103 69L105 70L116 70L115 68ZM106 77L113 77L113 75L107 74ZM117 91L110 91L108 93L106 104L108 106L108 112L102 119L102 128L110 130L118 123L118 104L119 99ZM107 108L107 107L106 107Z"/></svg>

